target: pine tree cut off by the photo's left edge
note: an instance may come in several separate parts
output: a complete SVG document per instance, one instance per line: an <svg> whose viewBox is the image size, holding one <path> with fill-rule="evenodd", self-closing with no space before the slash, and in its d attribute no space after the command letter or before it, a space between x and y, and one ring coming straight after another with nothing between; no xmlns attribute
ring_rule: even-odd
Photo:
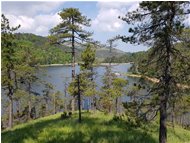
<svg viewBox="0 0 190 143"><path fill-rule="evenodd" d="M1 48L2 48L2 87L7 94L9 104L9 128L13 127L13 96L16 89L15 82L15 52L18 46L15 42L14 31L20 27L10 27L9 20L1 16Z"/></svg>

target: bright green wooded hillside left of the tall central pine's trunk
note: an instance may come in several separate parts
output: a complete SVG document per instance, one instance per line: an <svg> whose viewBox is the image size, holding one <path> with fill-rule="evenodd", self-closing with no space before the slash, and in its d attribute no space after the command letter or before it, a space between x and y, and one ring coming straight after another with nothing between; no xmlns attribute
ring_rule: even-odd
<svg viewBox="0 0 190 143"><path fill-rule="evenodd" d="M17 33L15 35L18 43L32 48L31 54L35 55L35 64L65 64L71 61L69 53L50 45L46 37L28 33Z"/></svg>

